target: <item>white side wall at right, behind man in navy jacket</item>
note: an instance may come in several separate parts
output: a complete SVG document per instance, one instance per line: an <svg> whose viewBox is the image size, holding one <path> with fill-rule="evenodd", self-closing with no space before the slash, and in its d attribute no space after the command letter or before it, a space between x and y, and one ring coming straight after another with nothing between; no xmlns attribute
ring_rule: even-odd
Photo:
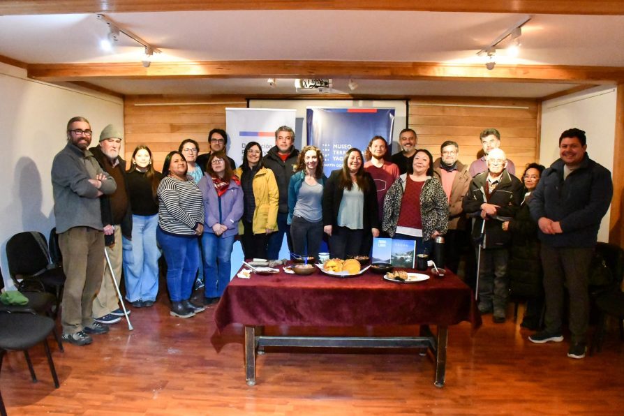
<svg viewBox="0 0 624 416"><path fill-rule="evenodd" d="M559 136L568 128L586 132L587 153L613 172L616 129L616 88L597 87L542 103L540 163L548 167L559 158ZM609 216L602 218L598 241L609 241Z"/></svg>

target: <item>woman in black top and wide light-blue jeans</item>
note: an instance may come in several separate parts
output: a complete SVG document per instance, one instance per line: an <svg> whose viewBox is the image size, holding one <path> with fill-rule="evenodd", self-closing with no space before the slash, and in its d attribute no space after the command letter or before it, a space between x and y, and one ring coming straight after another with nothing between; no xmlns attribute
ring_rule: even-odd
<svg viewBox="0 0 624 416"><path fill-rule="evenodd" d="M135 308L152 306L158 295L158 258L156 245L158 200L156 191L163 174L154 170L154 159L147 146L137 146L126 174L132 207L132 239L124 238L124 278L126 299Z"/></svg>

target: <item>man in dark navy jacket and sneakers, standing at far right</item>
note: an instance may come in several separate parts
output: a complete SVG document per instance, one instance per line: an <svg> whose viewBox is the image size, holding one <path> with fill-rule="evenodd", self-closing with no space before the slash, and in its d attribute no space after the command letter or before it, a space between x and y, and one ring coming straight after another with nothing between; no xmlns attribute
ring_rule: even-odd
<svg viewBox="0 0 624 416"><path fill-rule="evenodd" d="M561 342L564 286L570 296L567 356L585 357L589 321L588 275L600 221L613 195L611 172L586 153L585 132L570 128L559 138L559 156L529 202L540 227L546 328L529 336L534 343Z"/></svg>

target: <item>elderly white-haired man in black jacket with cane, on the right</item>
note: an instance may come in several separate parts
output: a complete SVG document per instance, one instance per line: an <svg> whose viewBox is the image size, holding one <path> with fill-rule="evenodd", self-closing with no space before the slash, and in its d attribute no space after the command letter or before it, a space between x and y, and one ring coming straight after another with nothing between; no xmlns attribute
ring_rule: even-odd
<svg viewBox="0 0 624 416"><path fill-rule="evenodd" d="M479 311L490 313L496 323L505 322L505 310L509 289L507 285L507 260L510 234L503 230L503 222L509 221L520 207L523 196L522 184L507 172L507 156L501 149L493 149L486 158L488 170L477 174L470 182L463 199L463 210L475 219L473 239L483 241L480 251Z"/></svg>

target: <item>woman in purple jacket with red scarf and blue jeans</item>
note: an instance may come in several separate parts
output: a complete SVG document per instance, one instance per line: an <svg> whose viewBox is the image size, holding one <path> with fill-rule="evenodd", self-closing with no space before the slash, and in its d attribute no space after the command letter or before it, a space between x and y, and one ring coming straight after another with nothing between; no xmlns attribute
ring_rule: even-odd
<svg viewBox="0 0 624 416"><path fill-rule="evenodd" d="M243 216L243 188L223 151L210 154L198 184L204 200L205 303L214 303L230 283L232 246Z"/></svg>

